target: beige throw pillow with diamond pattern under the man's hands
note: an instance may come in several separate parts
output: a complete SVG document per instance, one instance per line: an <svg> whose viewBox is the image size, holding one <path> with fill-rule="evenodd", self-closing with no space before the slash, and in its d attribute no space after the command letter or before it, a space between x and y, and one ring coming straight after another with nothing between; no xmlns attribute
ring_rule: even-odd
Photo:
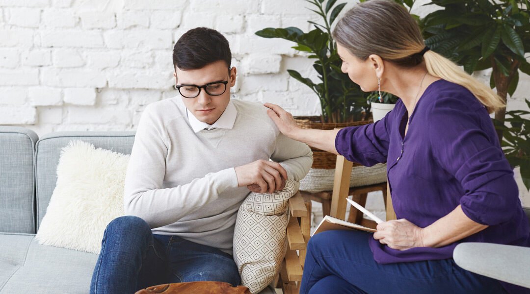
<svg viewBox="0 0 530 294"><path fill-rule="evenodd" d="M239 208L234 229L234 261L241 284L252 293L267 287L280 271L287 249L287 200L298 187L298 182L287 180L281 191L252 192Z"/></svg>

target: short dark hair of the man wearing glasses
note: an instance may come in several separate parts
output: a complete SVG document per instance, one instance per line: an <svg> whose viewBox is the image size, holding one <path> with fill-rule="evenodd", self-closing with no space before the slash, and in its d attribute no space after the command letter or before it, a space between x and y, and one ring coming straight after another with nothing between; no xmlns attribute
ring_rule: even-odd
<svg viewBox="0 0 530 294"><path fill-rule="evenodd" d="M230 69L232 52L226 38L207 27L185 32L173 47L173 67L182 70L203 68L218 60L223 60Z"/></svg>

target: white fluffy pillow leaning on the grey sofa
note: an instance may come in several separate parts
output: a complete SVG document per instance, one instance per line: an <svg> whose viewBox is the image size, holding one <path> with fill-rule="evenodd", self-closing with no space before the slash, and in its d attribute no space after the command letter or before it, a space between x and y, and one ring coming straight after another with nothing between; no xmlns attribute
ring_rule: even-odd
<svg viewBox="0 0 530 294"><path fill-rule="evenodd" d="M57 184L37 232L40 244L98 254L103 232L123 215L129 155L70 141L61 150Z"/></svg>

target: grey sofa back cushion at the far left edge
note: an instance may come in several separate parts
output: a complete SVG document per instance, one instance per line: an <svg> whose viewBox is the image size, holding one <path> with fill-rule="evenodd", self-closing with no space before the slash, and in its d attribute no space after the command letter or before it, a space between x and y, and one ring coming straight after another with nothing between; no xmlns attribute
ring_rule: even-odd
<svg viewBox="0 0 530 294"><path fill-rule="evenodd" d="M0 232L35 233L33 154L38 136L0 126Z"/></svg>

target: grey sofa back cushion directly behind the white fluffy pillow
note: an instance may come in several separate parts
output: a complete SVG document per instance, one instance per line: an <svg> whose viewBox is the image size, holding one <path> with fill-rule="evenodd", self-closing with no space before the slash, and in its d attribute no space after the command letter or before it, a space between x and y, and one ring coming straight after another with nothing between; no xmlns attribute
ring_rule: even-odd
<svg viewBox="0 0 530 294"><path fill-rule="evenodd" d="M57 164L61 149L72 140L92 143L95 148L102 148L130 154L133 149L134 132L56 132L43 136L36 146L37 162L37 230L46 213L51 194L57 182Z"/></svg>

